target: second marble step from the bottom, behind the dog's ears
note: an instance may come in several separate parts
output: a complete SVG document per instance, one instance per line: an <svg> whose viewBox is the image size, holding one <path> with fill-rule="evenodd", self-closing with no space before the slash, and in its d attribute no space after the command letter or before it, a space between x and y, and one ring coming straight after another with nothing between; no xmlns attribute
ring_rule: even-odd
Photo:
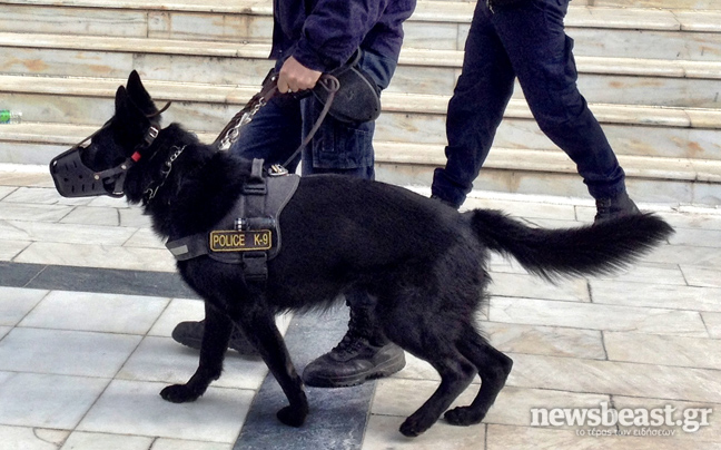
<svg viewBox="0 0 721 450"><path fill-rule="evenodd" d="M112 115L122 79L0 76L0 95L24 120L98 126ZM203 85L146 79L164 115L198 133L218 133L256 94L254 86ZM376 137L405 144L445 144L448 96L385 92ZM621 155L721 160L721 109L591 104ZM39 128L41 131L42 128ZM496 135L501 148L553 150L523 100L513 99ZM47 155L46 155L47 156Z"/></svg>

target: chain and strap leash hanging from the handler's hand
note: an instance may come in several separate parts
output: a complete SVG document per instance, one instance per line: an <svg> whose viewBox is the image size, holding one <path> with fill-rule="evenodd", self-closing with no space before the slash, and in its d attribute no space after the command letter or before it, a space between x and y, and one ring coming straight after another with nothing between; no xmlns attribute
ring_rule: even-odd
<svg viewBox="0 0 721 450"><path fill-rule="evenodd" d="M285 163L283 163L282 166L287 166L298 156L298 154L303 151L304 148L308 146L310 139L313 139L313 136L315 136L316 131L318 131L320 124L323 124L323 120L328 115L330 106L333 105L333 99L340 88L340 82L333 75L323 74L314 89L318 89L318 87L325 89L328 92L325 105L320 110L320 114L318 115L315 124L313 125L313 128L310 128L310 131L308 131L308 135L305 137L305 139L303 139L303 143L300 143L298 148L290 155L290 157ZM310 95L310 90L307 90L305 92L302 92L299 96L295 95L295 97L302 99ZM258 113L258 110L260 110L260 108L267 105L270 99L278 95L283 95L278 91L278 75L274 70L271 70L263 81L260 91L253 96L253 98L250 98L250 101L248 101L248 104L241 110L239 110L233 117L233 119L230 119L225 128L223 128L213 145L219 150L228 150L230 146L236 140L238 140L238 137L240 136L240 128L249 124L253 120L253 117Z"/></svg>

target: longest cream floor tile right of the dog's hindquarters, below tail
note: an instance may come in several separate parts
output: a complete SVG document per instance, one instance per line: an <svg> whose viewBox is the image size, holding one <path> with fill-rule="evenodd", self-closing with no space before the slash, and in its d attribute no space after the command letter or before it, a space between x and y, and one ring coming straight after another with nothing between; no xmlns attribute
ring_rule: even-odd
<svg viewBox="0 0 721 450"><path fill-rule="evenodd" d="M654 307L492 297L490 320L527 325L707 336L699 313Z"/></svg>

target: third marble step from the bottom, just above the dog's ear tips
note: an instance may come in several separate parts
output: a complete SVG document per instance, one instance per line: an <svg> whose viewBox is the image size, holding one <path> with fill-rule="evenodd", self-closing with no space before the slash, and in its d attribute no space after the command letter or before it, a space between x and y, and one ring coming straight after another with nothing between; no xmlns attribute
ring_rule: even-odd
<svg viewBox="0 0 721 450"><path fill-rule="evenodd" d="M263 43L0 32L0 71L16 75L121 78L137 69L158 80L251 86L271 67L267 52ZM447 95L462 61L457 50L404 48L388 91ZM591 102L721 105L721 61L580 56L576 62ZM523 98L518 87L514 96Z"/></svg>

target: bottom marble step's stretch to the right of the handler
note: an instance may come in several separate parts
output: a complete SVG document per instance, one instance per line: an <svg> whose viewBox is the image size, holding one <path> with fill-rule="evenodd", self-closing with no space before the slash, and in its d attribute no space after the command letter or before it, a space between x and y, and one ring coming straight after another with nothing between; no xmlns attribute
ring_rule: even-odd
<svg viewBox="0 0 721 450"><path fill-rule="evenodd" d="M429 186L445 164L443 146L376 143L376 176L403 186ZM619 155L626 186L638 202L719 205L721 160ZM575 165L560 149L491 149L475 189L589 197Z"/></svg>

